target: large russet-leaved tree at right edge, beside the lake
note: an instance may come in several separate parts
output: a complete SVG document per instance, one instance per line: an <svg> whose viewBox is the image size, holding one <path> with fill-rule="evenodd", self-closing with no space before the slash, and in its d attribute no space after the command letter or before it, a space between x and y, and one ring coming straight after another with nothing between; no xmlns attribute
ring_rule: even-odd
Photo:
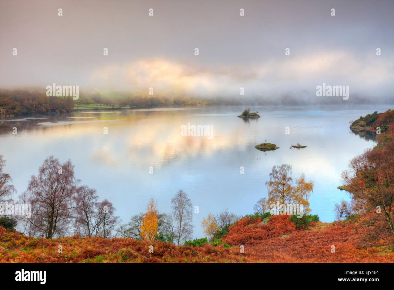
<svg viewBox="0 0 394 290"><path fill-rule="evenodd" d="M394 237L393 152L394 140L390 138L383 148L367 149L353 158L349 170L342 173L346 191L357 206L349 212L366 213L357 219L357 223L371 228L372 232L367 237L371 241ZM360 205L363 208L360 209Z"/></svg>

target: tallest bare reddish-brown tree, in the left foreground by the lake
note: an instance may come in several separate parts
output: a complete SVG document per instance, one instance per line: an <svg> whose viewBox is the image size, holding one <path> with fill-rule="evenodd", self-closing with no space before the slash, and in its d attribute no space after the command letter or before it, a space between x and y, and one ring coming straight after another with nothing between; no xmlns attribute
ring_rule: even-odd
<svg viewBox="0 0 394 290"><path fill-rule="evenodd" d="M24 199L35 208L35 215L28 219L45 238L63 232L58 226L71 219L77 183L71 161L61 164L53 156L45 159L38 176L29 181Z"/></svg>

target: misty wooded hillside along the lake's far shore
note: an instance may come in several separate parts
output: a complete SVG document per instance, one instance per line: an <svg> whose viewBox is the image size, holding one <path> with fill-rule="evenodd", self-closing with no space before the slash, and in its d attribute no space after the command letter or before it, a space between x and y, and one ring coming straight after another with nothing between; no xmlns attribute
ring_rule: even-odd
<svg viewBox="0 0 394 290"><path fill-rule="evenodd" d="M392 98L381 98L379 103L393 103ZM304 92L292 95L183 95L171 92L148 91L80 91L79 99L70 97L47 97L46 91L39 88L30 90L0 89L0 116L25 115L48 112L70 112L78 109L148 109L157 107L181 106L326 106L326 105L365 105L376 104L376 99L353 96L349 100L332 97L316 97L314 93Z"/></svg>

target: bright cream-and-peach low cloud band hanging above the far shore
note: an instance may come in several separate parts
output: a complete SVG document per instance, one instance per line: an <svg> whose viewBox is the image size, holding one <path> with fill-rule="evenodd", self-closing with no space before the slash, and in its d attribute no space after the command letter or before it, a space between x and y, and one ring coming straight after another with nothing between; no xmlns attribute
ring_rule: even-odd
<svg viewBox="0 0 394 290"><path fill-rule="evenodd" d="M91 85L101 89L146 91L155 94L239 96L316 94L323 82L348 85L351 94L374 97L392 92L392 61L379 56L359 61L345 51L283 56L253 65L215 66L165 59L144 59L96 69Z"/></svg>

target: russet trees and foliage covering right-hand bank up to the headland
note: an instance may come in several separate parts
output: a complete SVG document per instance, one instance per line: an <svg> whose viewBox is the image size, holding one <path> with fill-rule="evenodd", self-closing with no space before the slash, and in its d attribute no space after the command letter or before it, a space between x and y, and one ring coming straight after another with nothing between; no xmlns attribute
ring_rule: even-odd
<svg viewBox="0 0 394 290"><path fill-rule="evenodd" d="M359 121L367 126L375 125L372 129L381 129L377 134L379 142L374 149L351 159L349 170L342 173L344 187L351 194L352 201L342 201L336 205L335 211L338 217L352 219L362 213L357 223L368 228L365 240L374 242L394 238L394 112L374 112Z"/></svg>

